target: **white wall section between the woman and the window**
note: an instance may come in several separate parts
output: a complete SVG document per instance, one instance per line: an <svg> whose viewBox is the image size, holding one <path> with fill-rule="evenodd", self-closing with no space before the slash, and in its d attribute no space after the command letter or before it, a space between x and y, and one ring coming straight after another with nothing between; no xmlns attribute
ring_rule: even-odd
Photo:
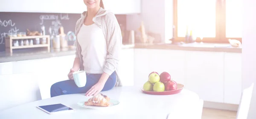
<svg viewBox="0 0 256 119"><path fill-rule="evenodd" d="M161 42L172 38L172 0L141 0L141 14L127 16L127 30L138 30L141 21L146 31L161 35Z"/></svg>

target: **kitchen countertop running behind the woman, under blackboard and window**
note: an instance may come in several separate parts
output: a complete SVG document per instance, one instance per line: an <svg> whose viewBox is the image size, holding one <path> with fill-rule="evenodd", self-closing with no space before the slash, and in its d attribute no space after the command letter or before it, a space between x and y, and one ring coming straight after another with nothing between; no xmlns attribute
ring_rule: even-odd
<svg viewBox="0 0 256 119"><path fill-rule="evenodd" d="M191 50L209 52L241 53L242 48L231 47L230 44L191 43L191 44L123 44L122 49L166 49L166 50ZM0 52L0 63L10 61L32 60L38 58L50 58L65 55L75 55L75 49L52 49L50 53L45 50L17 50L14 53Z"/></svg>

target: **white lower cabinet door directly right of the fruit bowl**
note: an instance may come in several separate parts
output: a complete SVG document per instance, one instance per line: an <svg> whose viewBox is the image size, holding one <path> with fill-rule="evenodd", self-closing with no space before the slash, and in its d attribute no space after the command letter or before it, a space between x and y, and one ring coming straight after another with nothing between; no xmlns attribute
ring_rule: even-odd
<svg viewBox="0 0 256 119"><path fill-rule="evenodd" d="M185 86L209 102L224 102L224 53L186 51Z"/></svg>

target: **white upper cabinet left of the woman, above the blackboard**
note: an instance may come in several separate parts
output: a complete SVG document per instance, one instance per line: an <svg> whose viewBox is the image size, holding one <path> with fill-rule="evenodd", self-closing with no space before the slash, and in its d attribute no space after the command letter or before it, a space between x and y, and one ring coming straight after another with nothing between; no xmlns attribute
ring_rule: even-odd
<svg viewBox="0 0 256 119"><path fill-rule="evenodd" d="M2 0L0 12L79 13L86 11L83 0Z"/></svg>

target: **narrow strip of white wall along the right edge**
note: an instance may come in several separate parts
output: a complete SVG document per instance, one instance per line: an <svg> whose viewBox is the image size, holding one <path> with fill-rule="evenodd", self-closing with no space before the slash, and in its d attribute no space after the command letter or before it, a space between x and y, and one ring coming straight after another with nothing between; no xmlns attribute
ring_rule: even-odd
<svg viewBox="0 0 256 119"><path fill-rule="evenodd" d="M242 49L242 88L256 83L256 1L243 0L243 49ZM254 85L252 101L247 119L256 119L256 86Z"/></svg>

